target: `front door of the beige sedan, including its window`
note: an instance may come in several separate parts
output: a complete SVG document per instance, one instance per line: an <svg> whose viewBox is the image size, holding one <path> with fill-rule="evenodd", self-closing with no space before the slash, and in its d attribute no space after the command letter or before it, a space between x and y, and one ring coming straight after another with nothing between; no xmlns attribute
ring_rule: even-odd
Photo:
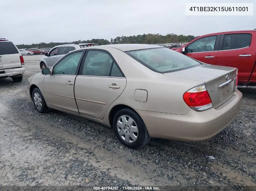
<svg viewBox="0 0 256 191"><path fill-rule="evenodd" d="M69 54L54 65L51 75L45 75L43 81L45 100L51 107L78 113L74 84L83 54L82 50Z"/></svg>

